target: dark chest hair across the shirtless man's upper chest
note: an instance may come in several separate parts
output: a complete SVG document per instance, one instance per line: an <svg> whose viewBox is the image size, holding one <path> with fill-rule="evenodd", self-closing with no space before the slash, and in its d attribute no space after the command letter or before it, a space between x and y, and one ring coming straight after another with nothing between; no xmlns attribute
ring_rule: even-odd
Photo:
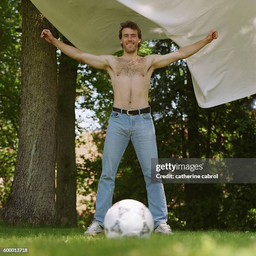
<svg viewBox="0 0 256 256"><path fill-rule="evenodd" d="M136 61L129 61L126 59L117 59L116 67L117 67L117 75L125 74L128 77L133 77L136 74L140 74L141 76L144 76L146 71L144 58L141 58Z"/></svg>

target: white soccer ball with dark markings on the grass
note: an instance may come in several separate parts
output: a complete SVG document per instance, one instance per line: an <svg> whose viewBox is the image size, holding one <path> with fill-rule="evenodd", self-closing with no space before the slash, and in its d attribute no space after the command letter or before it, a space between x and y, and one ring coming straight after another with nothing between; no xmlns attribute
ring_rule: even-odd
<svg viewBox="0 0 256 256"><path fill-rule="evenodd" d="M107 238L137 236L147 238L154 229L153 216L143 203L125 199L108 209L104 218Z"/></svg>

